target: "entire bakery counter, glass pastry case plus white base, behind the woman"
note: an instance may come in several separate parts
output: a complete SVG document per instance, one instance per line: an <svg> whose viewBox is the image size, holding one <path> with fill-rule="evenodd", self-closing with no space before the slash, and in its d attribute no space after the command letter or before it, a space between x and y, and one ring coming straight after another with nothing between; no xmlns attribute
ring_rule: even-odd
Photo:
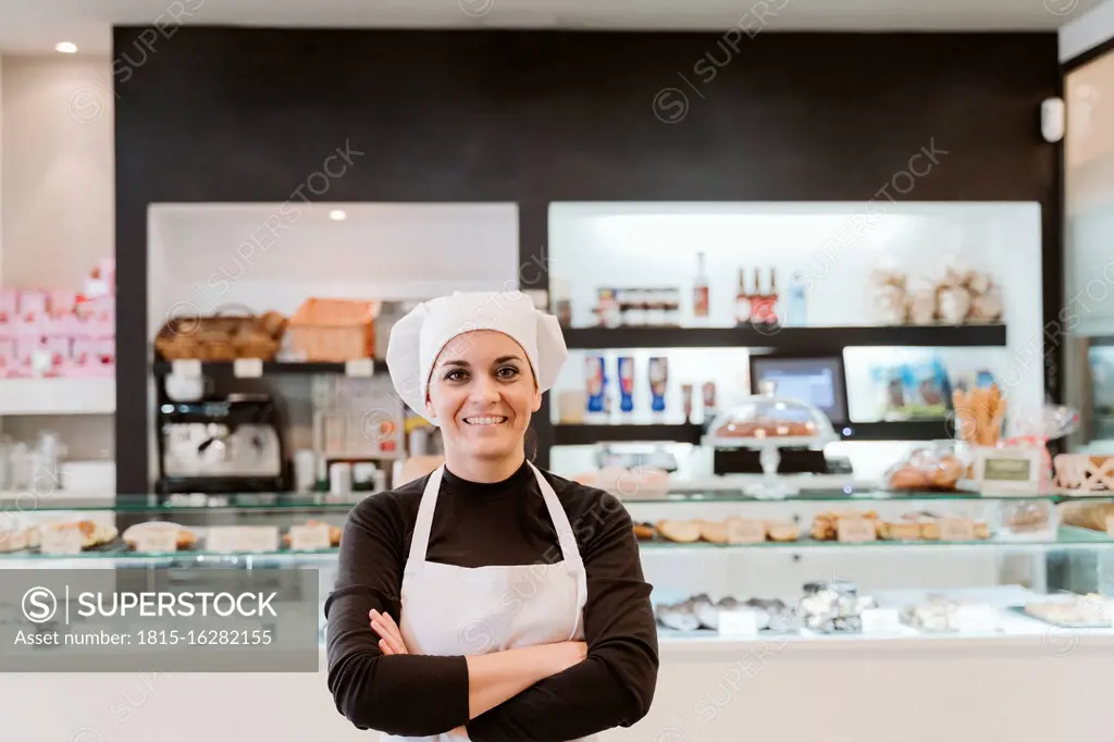
<svg viewBox="0 0 1114 742"><path fill-rule="evenodd" d="M0 572L77 568L134 589L170 570L197 590L211 570L242 570L280 601L314 596L316 667L11 672L0 661L6 739L368 739L329 695L320 605L352 502L204 500L6 510ZM604 739L1108 738L1114 497L717 490L625 506L662 664L647 716ZM0 595L9 631L28 622L18 598Z"/></svg>

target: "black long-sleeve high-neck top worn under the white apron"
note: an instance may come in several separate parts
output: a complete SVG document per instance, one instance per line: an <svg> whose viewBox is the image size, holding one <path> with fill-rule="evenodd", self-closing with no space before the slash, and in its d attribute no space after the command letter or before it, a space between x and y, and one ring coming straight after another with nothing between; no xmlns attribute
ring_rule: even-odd
<svg viewBox="0 0 1114 742"><path fill-rule="evenodd" d="M463 656L384 656L368 613L400 621L402 572L429 477L361 501L349 516L336 589L325 602L329 689L360 729L429 736L467 723L475 742L564 742L629 726L649 710L657 633L629 515L613 496L543 476L568 515L587 572L587 660L468 721ZM477 484L446 470L426 558L459 567L560 562L557 534L527 465Z"/></svg>

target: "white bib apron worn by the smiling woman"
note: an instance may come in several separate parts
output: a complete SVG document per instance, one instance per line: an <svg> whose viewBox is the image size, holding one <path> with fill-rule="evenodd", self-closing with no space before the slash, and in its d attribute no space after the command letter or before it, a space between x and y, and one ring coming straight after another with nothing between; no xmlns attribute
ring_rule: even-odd
<svg viewBox="0 0 1114 742"><path fill-rule="evenodd" d="M520 646L583 641L587 578L573 526L553 487L530 463L560 544L563 562L453 567L426 560L444 467L430 475L418 506L410 558L402 573L399 628L411 654L480 655ZM524 497L525 497L524 492ZM436 703L434 699L430 700ZM460 736L381 740L460 740ZM586 738L594 739L594 738Z"/></svg>

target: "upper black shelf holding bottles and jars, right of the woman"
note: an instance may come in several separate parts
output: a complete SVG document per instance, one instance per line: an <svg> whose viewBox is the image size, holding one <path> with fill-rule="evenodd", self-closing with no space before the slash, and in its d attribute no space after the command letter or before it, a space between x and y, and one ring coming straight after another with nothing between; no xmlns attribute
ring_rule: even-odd
<svg viewBox="0 0 1114 742"><path fill-rule="evenodd" d="M773 348L828 354L850 346L975 348L1004 346L1006 325L911 325L782 328L565 328L570 349L610 348Z"/></svg>

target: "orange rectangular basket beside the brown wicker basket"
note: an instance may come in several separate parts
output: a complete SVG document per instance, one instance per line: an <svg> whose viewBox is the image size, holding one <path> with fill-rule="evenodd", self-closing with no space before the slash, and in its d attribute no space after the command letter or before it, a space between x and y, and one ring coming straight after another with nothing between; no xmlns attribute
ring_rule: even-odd
<svg viewBox="0 0 1114 742"><path fill-rule="evenodd" d="M351 361L375 354L380 302L307 299L290 320L290 348L306 361Z"/></svg>

